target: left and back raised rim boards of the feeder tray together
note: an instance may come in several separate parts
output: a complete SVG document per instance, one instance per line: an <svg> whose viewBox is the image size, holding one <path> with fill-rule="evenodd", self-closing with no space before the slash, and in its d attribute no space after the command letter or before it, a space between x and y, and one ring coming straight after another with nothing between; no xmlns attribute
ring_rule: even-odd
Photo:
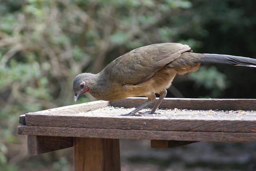
<svg viewBox="0 0 256 171"><path fill-rule="evenodd" d="M158 99L158 98L157 98ZM80 113L112 105L114 107L138 107L146 101L145 97L129 97L118 101L92 101L76 105L57 107L38 111L36 113ZM153 107L151 104L149 107ZM195 109L195 110L256 110L256 99L190 99L190 98L165 98L159 108L167 109Z"/></svg>

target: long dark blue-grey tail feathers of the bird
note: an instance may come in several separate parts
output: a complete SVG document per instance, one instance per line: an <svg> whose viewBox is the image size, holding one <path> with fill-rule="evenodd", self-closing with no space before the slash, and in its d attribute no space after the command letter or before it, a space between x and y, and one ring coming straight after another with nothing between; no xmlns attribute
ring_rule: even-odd
<svg viewBox="0 0 256 171"><path fill-rule="evenodd" d="M256 67L256 59L253 58L219 54L203 54L203 56L203 58L196 60L196 62Z"/></svg>

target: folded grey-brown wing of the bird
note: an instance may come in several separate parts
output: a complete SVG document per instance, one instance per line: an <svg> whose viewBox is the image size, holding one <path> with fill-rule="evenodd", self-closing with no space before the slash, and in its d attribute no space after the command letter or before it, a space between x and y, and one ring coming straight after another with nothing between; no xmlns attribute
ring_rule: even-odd
<svg viewBox="0 0 256 171"><path fill-rule="evenodd" d="M102 72L122 84L139 84L188 50L188 45L178 43L143 46L116 58Z"/></svg>

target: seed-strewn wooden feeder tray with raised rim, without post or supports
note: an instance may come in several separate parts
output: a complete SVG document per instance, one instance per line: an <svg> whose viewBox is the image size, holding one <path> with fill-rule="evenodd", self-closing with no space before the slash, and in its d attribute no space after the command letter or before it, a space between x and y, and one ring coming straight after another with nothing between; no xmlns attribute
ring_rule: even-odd
<svg viewBox="0 0 256 171"><path fill-rule="evenodd" d="M146 101L94 101L20 116L20 135L256 142L256 99L166 98L159 115L125 117ZM110 107L109 107L110 106ZM151 106L152 107L152 106ZM161 109L162 108L162 109Z"/></svg>

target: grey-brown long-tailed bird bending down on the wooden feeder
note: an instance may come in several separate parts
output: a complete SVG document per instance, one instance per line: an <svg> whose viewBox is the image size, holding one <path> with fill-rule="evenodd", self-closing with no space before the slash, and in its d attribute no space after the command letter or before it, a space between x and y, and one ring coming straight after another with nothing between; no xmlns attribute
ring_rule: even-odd
<svg viewBox="0 0 256 171"><path fill-rule="evenodd" d="M116 58L98 74L77 75L73 82L74 101L85 92L106 101L145 96L146 102L123 116L155 114L176 74L194 72L201 63L256 67L253 58L194 53L188 45L180 43L152 44ZM160 95L158 101L156 94ZM154 101L150 111L140 111Z"/></svg>

